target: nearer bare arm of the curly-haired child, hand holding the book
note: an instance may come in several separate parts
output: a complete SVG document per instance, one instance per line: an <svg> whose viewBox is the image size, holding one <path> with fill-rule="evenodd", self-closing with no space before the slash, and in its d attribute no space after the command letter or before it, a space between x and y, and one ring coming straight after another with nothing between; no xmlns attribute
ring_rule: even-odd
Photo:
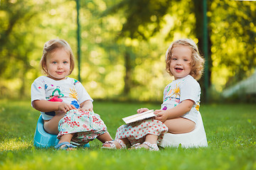
<svg viewBox="0 0 256 170"><path fill-rule="evenodd" d="M157 115L156 120L160 120L161 122L164 123L167 119L178 118L181 115L190 111L193 105L194 105L193 101L185 100L179 103L174 108L167 109L166 111L156 110L154 112Z"/></svg>

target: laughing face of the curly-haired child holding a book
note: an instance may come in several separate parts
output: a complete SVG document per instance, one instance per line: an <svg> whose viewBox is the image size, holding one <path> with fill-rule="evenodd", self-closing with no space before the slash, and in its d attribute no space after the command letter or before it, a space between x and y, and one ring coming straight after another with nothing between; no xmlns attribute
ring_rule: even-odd
<svg viewBox="0 0 256 170"><path fill-rule="evenodd" d="M176 45L172 49L170 69L171 73L174 75L174 79L181 79L190 74L191 56L191 47L186 45Z"/></svg>

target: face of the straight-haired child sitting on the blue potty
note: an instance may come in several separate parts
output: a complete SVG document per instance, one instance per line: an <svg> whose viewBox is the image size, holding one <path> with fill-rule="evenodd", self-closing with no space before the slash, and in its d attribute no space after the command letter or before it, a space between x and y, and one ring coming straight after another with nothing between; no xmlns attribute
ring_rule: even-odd
<svg viewBox="0 0 256 170"><path fill-rule="evenodd" d="M65 79L70 74L70 55L64 49L57 49L46 56L48 77L55 80Z"/></svg>

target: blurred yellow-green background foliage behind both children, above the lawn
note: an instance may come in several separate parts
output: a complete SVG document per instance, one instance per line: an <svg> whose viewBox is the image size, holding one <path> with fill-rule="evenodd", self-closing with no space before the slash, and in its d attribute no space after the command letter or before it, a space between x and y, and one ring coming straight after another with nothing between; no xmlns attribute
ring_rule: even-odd
<svg viewBox="0 0 256 170"><path fill-rule="evenodd" d="M207 2L206 74L215 98L255 72L256 3ZM80 1L81 81L92 98L161 101L172 79L164 69L169 44L191 38L202 50L201 6L202 0ZM1 98L29 98L47 40L67 40L76 55L76 17L75 1L1 0Z"/></svg>

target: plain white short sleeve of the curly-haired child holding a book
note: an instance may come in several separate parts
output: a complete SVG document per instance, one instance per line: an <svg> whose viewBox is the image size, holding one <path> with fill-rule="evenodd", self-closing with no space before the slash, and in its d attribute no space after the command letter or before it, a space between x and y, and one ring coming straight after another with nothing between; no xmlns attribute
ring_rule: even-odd
<svg viewBox="0 0 256 170"><path fill-rule="evenodd" d="M192 100L195 103L200 100L201 88L195 79L187 79L181 85L181 98L180 101Z"/></svg>

